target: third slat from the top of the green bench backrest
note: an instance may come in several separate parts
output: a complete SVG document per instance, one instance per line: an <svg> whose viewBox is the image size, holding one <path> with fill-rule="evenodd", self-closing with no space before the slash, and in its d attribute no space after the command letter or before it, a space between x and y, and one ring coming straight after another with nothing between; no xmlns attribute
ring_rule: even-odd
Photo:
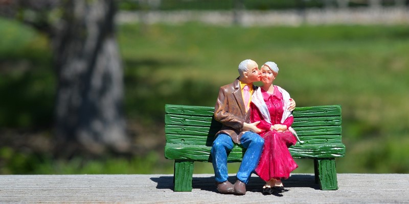
<svg viewBox="0 0 409 204"><path fill-rule="evenodd" d="M166 134L178 134L178 135L201 135L201 136L214 136L220 127L215 126L183 126L183 125L165 125ZM294 127L298 136L308 135L340 135L341 126L311 126L311 127Z"/></svg>

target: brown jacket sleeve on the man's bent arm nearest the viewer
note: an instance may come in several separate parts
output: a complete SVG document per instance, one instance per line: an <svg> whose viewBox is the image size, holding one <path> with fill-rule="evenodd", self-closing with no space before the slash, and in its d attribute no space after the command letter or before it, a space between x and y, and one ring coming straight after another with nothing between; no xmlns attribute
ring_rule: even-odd
<svg viewBox="0 0 409 204"><path fill-rule="evenodd" d="M242 130L244 119L229 113L229 109L238 107L229 107L229 105L229 100L226 97L226 90L221 87L214 109L214 119L221 122L225 126L232 127L235 130Z"/></svg>

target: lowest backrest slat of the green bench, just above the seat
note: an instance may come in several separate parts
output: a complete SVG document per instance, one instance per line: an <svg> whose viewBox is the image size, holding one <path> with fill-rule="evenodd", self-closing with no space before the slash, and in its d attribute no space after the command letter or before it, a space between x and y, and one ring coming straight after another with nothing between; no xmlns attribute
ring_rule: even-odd
<svg viewBox="0 0 409 204"><path fill-rule="evenodd" d="M306 144L342 143L340 135L300 136ZM166 142L173 144L194 144L212 146L214 138L197 135L167 134Z"/></svg>

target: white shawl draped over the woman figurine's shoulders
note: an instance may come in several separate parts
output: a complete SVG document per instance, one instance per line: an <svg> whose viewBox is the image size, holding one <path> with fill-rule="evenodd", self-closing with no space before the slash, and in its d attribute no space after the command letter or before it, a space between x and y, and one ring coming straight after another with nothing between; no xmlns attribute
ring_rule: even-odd
<svg viewBox="0 0 409 204"><path fill-rule="evenodd" d="M291 111L288 110L288 107L290 106L290 94L284 90L283 88L279 87L279 86L275 86L278 88L278 90L280 91L280 93L283 95L283 117L281 118L281 123L283 123L288 117L292 116ZM267 105L265 104L263 95L261 94L261 87L258 88L256 90L256 92L253 94L252 96L252 103L254 105L256 105L256 107L259 109L261 116L263 117L263 119L268 122L269 124L271 124L271 118L270 118L270 114L268 113L268 109L267 109ZM292 129L291 126L288 127L288 130L294 135L296 136L297 140L300 143L304 143L303 141L300 140L300 138L298 138L298 135L296 133L296 131L294 131L294 129Z"/></svg>

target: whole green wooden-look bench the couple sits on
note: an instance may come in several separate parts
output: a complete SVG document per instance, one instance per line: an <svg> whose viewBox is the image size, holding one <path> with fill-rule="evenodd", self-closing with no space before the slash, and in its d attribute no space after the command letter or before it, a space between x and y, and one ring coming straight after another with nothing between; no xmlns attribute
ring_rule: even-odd
<svg viewBox="0 0 409 204"><path fill-rule="evenodd" d="M194 162L212 162L210 149L221 123L214 107L165 105L165 157L175 160L174 191L191 191ZM338 105L297 107L293 129L303 144L289 148L293 158L313 159L315 182L321 190L338 189L335 158L345 156ZM240 162L245 149L236 145L228 162Z"/></svg>

